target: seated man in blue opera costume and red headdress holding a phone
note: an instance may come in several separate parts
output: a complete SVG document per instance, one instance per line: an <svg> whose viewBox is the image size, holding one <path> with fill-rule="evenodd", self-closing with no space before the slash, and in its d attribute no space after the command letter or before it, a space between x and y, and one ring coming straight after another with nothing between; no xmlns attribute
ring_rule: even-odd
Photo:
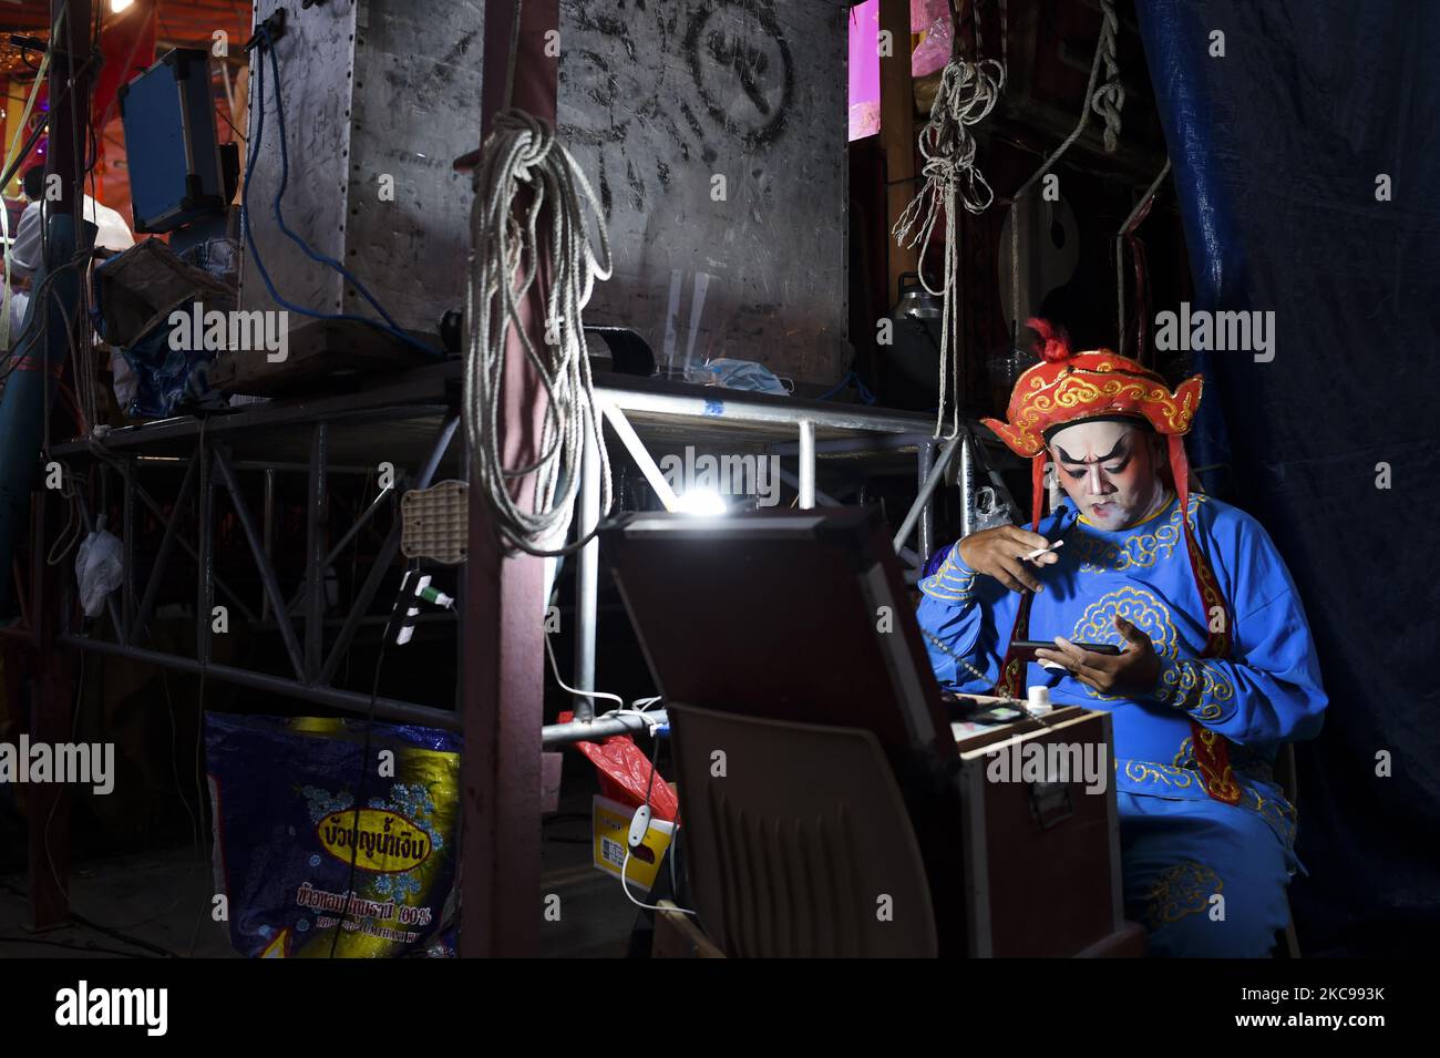
<svg viewBox="0 0 1440 1058"><path fill-rule="evenodd" d="M1297 868L1295 809L1270 767L1283 743L1315 737L1326 705L1295 584L1254 518L1191 494L1198 376L1171 392L1031 325L1043 360L1017 381L1009 422L985 425L1034 461L1037 517L966 537L920 583L930 662L955 691L1038 684L1057 705L1107 710L1126 914L1151 953L1269 954ZM1047 461L1067 498L1040 518ZM1027 662L1018 639L1056 648Z"/></svg>

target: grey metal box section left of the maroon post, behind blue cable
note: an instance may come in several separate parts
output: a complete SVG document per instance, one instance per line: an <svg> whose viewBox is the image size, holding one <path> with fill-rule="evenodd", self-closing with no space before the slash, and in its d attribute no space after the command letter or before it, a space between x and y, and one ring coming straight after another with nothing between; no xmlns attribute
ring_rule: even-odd
<svg viewBox="0 0 1440 1058"><path fill-rule="evenodd" d="M256 20L279 6L288 19L275 52L289 153L285 222L344 262L402 327L435 334L441 314L465 298L472 196L451 163L480 138L484 4L331 0L301 9L258 0ZM374 317L343 276L275 225L281 154L268 59L265 73L265 138L249 191L265 266L288 301ZM252 141L256 83L252 72ZM393 178L393 200L382 199L383 176ZM249 259L240 307L278 308ZM307 321L292 314L289 322Z"/></svg>

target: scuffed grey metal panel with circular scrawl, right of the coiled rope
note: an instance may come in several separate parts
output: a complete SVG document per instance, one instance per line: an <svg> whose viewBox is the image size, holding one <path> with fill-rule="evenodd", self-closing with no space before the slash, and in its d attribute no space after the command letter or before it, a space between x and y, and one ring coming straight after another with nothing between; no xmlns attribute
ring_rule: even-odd
<svg viewBox="0 0 1440 1058"><path fill-rule="evenodd" d="M834 0L560 0L560 137L616 265L586 322L634 327L662 361L840 379L847 17Z"/></svg>

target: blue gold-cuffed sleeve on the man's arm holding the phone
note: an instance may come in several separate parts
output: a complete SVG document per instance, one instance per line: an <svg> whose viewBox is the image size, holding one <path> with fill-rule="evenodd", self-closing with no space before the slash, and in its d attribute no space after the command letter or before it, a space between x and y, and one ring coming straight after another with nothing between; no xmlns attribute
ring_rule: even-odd
<svg viewBox="0 0 1440 1058"><path fill-rule="evenodd" d="M1233 576L1221 577L1236 615L1230 658L1162 659L1153 698L1269 756L1280 743L1313 738L1328 702L1290 573L1247 515L1240 515L1230 557L1238 559Z"/></svg>

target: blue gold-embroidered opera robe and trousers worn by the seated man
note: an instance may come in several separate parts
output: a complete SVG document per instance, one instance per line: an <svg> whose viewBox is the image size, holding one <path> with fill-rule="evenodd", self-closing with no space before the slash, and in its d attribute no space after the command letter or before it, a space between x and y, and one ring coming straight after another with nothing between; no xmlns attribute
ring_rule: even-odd
<svg viewBox="0 0 1440 1058"><path fill-rule="evenodd" d="M1058 563L1035 567L1044 592L1031 603L1027 638L1123 645L1120 613L1153 642L1161 678L1146 697L1119 698L1032 662L1024 682L1050 687L1056 705L1113 717L1126 913L1151 930L1152 953L1260 956L1286 926L1284 888L1297 867L1295 808L1270 766L1282 743L1319 731L1326 698L1300 600L1266 531L1204 495L1189 498L1189 517L1230 605L1230 656L1200 659L1211 615L1178 498L1117 531L1090 524L1067 498L1040 525L1066 543ZM917 616L940 684L989 692L1020 594L966 567L958 548L920 590ZM1230 740L1238 805L1205 792L1192 718Z"/></svg>

